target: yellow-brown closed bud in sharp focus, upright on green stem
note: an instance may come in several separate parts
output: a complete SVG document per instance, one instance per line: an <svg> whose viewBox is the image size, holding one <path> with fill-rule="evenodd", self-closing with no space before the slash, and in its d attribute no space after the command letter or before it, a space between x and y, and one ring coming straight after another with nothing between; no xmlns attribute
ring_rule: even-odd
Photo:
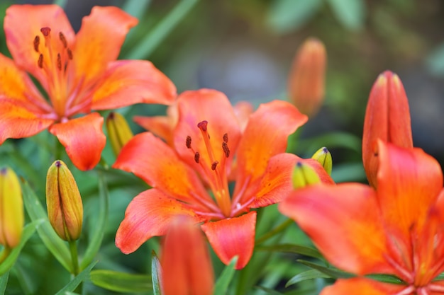
<svg viewBox="0 0 444 295"><path fill-rule="evenodd" d="M74 176L63 161L55 161L48 170L46 207L57 235L65 241L77 240L82 233L82 197Z"/></svg>

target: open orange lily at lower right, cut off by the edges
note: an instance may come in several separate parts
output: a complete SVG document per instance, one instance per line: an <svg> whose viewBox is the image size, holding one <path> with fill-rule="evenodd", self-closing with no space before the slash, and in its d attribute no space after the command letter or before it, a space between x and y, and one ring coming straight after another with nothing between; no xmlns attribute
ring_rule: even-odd
<svg viewBox="0 0 444 295"><path fill-rule="evenodd" d="M379 140L377 190L315 185L279 204L336 267L359 276L393 274L402 284L339 279L322 295L444 294L443 173L421 149ZM354 292L353 292L354 291Z"/></svg>

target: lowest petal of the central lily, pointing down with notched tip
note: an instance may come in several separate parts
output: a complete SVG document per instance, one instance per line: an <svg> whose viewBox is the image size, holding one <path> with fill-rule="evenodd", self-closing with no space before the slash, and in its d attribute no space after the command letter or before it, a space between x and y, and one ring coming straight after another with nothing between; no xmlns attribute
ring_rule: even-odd
<svg viewBox="0 0 444 295"><path fill-rule="evenodd" d="M250 261L255 247L255 211L231 219L207 222L201 228L223 263L228 265L237 255L235 268L240 270Z"/></svg>

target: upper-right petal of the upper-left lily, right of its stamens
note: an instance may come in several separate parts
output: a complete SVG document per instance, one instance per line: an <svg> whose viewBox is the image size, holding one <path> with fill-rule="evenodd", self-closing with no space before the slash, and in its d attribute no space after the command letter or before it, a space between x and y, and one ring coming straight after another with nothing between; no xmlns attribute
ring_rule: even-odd
<svg viewBox="0 0 444 295"><path fill-rule="evenodd" d="M76 80L88 85L117 59L128 31L137 25L125 11L114 6L94 6L82 20L82 28L72 51Z"/></svg>

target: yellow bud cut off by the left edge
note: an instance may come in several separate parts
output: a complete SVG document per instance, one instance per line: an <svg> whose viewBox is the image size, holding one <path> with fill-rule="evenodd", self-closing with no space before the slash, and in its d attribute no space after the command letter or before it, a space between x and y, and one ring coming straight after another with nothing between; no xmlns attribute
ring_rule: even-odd
<svg viewBox="0 0 444 295"><path fill-rule="evenodd" d="M0 169L0 244L14 248L20 243L24 224L23 199L16 173Z"/></svg>

